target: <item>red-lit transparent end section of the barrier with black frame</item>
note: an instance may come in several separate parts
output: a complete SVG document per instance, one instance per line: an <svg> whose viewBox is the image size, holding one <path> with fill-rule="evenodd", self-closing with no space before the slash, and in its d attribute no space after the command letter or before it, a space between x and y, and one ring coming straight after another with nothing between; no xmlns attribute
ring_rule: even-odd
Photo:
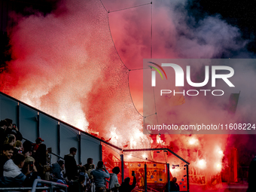
<svg viewBox="0 0 256 192"><path fill-rule="evenodd" d="M147 157L149 153L151 157ZM154 156L163 156L163 161L154 161ZM172 156L171 162L166 162L164 156ZM169 157L169 156L168 156ZM123 149L123 151L102 144L102 160L111 172L114 166L118 166L121 174L118 181L130 177L136 173L136 191L163 191L171 178L178 178L180 191L189 191L189 164L187 160L175 154L169 148L142 148Z"/></svg>

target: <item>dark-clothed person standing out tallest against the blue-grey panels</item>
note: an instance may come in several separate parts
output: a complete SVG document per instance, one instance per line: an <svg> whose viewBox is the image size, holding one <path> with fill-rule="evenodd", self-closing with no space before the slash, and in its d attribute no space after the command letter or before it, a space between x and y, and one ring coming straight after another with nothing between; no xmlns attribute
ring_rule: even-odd
<svg viewBox="0 0 256 192"><path fill-rule="evenodd" d="M70 148L69 154L64 156L66 175L69 180L75 180L75 177L78 176L78 166L75 160L75 154L77 154L77 149Z"/></svg>

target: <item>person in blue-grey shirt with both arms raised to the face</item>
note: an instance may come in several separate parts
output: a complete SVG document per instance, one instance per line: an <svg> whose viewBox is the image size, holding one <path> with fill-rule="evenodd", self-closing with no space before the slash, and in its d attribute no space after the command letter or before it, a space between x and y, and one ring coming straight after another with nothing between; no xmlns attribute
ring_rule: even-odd
<svg viewBox="0 0 256 192"><path fill-rule="evenodd" d="M104 170L104 171L103 171ZM97 168L90 172L93 175L93 179L96 186L96 192L103 192L106 190L105 187L105 178L110 178L108 170L105 169L105 165L103 161L99 161L97 164Z"/></svg>

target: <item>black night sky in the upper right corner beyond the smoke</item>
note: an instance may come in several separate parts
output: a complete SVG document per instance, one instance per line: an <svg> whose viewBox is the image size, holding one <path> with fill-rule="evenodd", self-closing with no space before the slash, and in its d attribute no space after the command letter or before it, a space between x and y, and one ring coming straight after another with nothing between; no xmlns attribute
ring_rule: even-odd
<svg viewBox="0 0 256 192"><path fill-rule="evenodd" d="M232 26L238 27L242 38L248 39L247 49L256 53L254 43L256 32L256 6L254 1L233 0L192 0L187 9L191 16L200 20L209 15L221 14L221 17Z"/></svg>

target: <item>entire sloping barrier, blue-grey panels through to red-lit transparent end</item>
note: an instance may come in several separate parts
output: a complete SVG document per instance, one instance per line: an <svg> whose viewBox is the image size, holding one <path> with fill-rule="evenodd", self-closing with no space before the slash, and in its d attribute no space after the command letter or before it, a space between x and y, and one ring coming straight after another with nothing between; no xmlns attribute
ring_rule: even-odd
<svg viewBox="0 0 256 192"><path fill-rule="evenodd" d="M26 140L34 142L38 137L43 138L44 144L51 148L52 163L68 154L69 148L75 147L78 148L78 154L75 155L78 163L86 163L87 158L91 157L93 163L103 160L109 172L114 166L119 166L120 183L125 177L132 178L132 171L136 171L137 191L160 191L172 176L178 178L180 191L189 191L189 163L168 148L118 148L5 93L0 93L0 119L5 118L17 123ZM169 157L173 158L169 160Z"/></svg>

